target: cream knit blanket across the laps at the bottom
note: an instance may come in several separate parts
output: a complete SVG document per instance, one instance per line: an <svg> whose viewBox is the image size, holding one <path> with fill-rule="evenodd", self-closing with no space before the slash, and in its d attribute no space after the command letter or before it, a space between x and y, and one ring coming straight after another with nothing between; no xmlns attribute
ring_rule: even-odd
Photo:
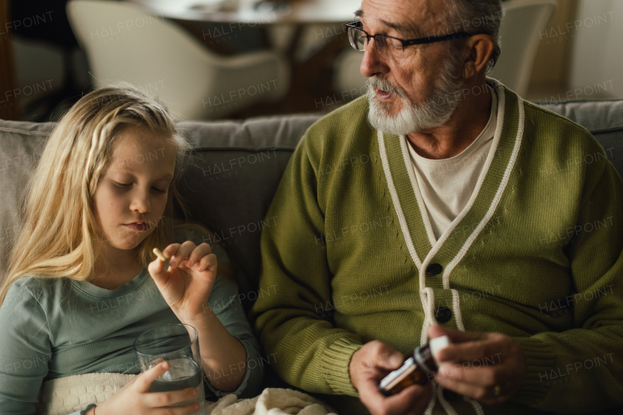
<svg viewBox="0 0 623 415"><path fill-rule="evenodd" d="M86 373L45 381L39 391L37 415L67 415L90 403L100 404L133 379L135 374ZM234 394L208 401L207 415L337 415L326 404L292 389L266 388L259 396L238 399Z"/></svg>

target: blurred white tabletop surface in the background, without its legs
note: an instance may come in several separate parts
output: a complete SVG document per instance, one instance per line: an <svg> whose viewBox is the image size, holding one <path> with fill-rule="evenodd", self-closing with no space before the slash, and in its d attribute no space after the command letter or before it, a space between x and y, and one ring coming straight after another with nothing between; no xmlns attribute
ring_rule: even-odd
<svg viewBox="0 0 623 415"><path fill-rule="evenodd" d="M354 21L361 0L128 0L171 19L204 22L341 23Z"/></svg>

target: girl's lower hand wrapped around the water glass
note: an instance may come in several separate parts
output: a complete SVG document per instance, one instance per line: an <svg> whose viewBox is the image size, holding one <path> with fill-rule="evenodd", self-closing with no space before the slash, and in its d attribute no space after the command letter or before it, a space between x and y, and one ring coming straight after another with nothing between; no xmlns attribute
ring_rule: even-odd
<svg viewBox="0 0 623 415"><path fill-rule="evenodd" d="M119 389L110 398L97 406L97 415L189 415L199 411L198 403L167 408L171 404L192 399L197 396L197 388L181 391L150 392L150 385L156 378L169 369L169 362L164 361L150 370L139 374ZM92 414L89 409L87 414Z"/></svg>

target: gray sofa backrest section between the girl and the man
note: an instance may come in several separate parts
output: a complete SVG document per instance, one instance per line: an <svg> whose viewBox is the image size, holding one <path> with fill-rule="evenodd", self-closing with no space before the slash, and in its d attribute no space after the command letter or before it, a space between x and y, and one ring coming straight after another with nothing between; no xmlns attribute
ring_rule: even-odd
<svg viewBox="0 0 623 415"><path fill-rule="evenodd" d="M318 118L179 124L197 150L179 191L193 219L215 232L237 267L239 296L247 309L259 295L262 229L279 226L277 217L264 216L298 141Z"/></svg>

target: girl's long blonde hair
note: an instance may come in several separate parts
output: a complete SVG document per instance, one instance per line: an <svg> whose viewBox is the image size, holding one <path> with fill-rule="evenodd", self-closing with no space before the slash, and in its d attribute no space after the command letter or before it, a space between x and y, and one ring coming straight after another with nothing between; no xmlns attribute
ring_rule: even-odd
<svg viewBox="0 0 623 415"><path fill-rule="evenodd" d="M173 242L173 201L188 220L176 181L193 147L181 135L163 103L138 88L117 84L99 88L78 100L52 131L22 199L24 226L17 238L0 287L0 305L13 282L24 275L87 280L100 255L93 196L112 161L121 131L140 126L153 131L176 150L174 178L164 217L139 244L143 266L152 249ZM207 230L206 230L207 231ZM102 258L105 259L105 258Z"/></svg>

